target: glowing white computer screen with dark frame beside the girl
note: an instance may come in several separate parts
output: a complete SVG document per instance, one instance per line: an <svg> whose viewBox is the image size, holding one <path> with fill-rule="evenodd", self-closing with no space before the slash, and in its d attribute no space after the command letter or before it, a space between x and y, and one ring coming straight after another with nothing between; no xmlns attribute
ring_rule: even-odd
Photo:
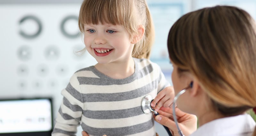
<svg viewBox="0 0 256 136"><path fill-rule="evenodd" d="M0 110L0 136L52 132L51 98L0 100Z"/></svg>

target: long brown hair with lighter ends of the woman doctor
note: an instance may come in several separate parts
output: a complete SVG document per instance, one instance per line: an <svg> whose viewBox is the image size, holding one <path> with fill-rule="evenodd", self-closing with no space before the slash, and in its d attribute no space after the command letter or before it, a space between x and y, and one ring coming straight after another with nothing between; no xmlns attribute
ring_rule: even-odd
<svg viewBox="0 0 256 136"><path fill-rule="evenodd" d="M167 44L172 62L198 79L219 113L256 107L256 24L249 13L233 6L190 12L174 23Z"/></svg>

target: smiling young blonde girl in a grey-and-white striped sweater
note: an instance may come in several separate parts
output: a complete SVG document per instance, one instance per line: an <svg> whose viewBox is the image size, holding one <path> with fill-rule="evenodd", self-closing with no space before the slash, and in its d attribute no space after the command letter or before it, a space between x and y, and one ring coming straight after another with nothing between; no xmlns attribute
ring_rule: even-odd
<svg viewBox="0 0 256 136"><path fill-rule="evenodd" d="M62 90L52 135L73 136L78 125L91 136L156 135L141 100L170 84L148 60L154 28L146 0L84 0L79 28L98 63L76 71Z"/></svg>

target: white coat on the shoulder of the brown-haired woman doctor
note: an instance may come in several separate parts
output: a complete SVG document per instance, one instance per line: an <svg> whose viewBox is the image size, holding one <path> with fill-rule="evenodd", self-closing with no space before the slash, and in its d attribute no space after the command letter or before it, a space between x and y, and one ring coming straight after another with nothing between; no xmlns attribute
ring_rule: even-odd
<svg viewBox="0 0 256 136"><path fill-rule="evenodd" d="M213 120L200 126L190 136L247 136L252 135L255 121L248 114Z"/></svg>

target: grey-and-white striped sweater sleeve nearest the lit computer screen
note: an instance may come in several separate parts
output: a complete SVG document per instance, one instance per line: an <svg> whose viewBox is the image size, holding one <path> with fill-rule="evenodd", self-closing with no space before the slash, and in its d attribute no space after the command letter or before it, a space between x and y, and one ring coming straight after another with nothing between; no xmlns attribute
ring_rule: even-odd
<svg viewBox="0 0 256 136"><path fill-rule="evenodd" d="M83 97L76 74L61 91L63 100L55 120L52 136L75 136L83 114Z"/></svg>

